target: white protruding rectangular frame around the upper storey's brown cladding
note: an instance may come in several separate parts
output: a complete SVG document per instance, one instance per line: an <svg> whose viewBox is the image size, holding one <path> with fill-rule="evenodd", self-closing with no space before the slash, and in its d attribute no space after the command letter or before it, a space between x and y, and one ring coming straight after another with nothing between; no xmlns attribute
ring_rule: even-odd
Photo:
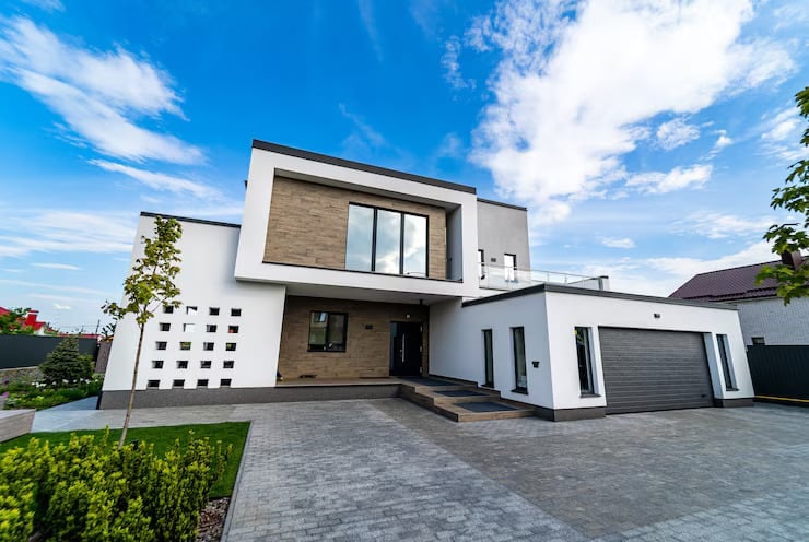
<svg viewBox="0 0 809 542"><path fill-rule="evenodd" d="M460 234L464 247L462 282L263 263L272 184L277 169L293 172L312 178L327 179L354 190L400 197L434 205L460 205L460 227L454 229L457 229ZM478 290L477 260L474 257L477 246L477 198L474 193L288 156L260 149L253 150L242 221L242 236L236 258L235 276L238 280L278 282L290 285L328 284L338 287L471 297L477 294ZM344 249L345 247L335 247L335 250Z"/></svg>

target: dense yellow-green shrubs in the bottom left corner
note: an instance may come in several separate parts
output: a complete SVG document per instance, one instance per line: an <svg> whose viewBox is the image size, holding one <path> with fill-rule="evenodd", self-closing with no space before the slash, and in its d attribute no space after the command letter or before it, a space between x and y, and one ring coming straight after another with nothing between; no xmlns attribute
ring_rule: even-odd
<svg viewBox="0 0 809 542"><path fill-rule="evenodd" d="M47 541L190 541L230 447L206 439L175 443L164 457L152 445L121 449L92 435L0 457L0 542L26 540L34 525Z"/></svg>

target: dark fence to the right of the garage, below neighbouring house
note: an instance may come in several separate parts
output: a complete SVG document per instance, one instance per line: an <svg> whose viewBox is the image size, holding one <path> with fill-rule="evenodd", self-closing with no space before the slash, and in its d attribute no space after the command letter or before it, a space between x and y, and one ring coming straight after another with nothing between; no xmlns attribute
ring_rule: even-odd
<svg viewBox="0 0 809 542"><path fill-rule="evenodd" d="M809 399L809 346L747 347L757 396Z"/></svg>

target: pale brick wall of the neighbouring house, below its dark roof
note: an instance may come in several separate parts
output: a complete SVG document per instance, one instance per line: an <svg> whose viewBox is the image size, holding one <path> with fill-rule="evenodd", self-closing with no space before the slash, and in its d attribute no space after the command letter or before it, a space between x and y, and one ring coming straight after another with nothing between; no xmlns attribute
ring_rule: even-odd
<svg viewBox="0 0 809 542"><path fill-rule="evenodd" d="M763 337L766 344L809 344L809 298L784 306L779 298L736 302L744 344Z"/></svg>

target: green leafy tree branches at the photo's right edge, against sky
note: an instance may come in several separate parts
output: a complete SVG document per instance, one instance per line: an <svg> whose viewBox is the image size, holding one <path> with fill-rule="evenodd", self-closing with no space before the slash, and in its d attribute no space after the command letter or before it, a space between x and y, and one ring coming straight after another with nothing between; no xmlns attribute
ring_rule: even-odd
<svg viewBox="0 0 809 542"><path fill-rule="evenodd" d="M809 86L795 95L800 116L809 120ZM809 151L809 126L800 139L804 149ZM809 160L797 161L789 166L784 186L773 190L770 203L773 209L786 209L800 219L789 224L770 226L764 238L773 244L773 252L804 252L809 249ZM809 261L795 269L793 266L767 266L761 269L758 282L775 279L778 296L788 305L792 299L809 296Z"/></svg>

